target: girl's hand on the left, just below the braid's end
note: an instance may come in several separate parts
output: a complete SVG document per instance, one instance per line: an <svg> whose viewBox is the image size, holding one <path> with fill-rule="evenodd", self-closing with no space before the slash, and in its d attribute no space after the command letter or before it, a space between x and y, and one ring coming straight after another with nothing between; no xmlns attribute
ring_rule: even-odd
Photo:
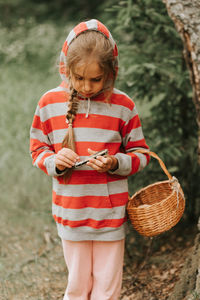
<svg viewBox="0 0 200 300"><path fill-rule="evenodd" d="M56 168L60 171L66 168L72 168L77 161L80 161L78 154L69 148L62 148L56 154Z"/></svg>

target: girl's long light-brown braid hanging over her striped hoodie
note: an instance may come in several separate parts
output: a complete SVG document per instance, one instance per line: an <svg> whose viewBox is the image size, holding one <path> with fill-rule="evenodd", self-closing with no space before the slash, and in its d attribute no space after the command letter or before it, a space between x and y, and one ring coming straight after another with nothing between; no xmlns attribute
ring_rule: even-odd
<svg viewBox="0 0 200 300"><path fill-rule="evenodd" d="M77 97L77 92L70 88L70 97L68 102L68 110L66 114L66 121L69 124L68 131L63 139L62 147L67 147L76 152L74 131L73 131L73 121L76 117L78 110L79 99Z"/></svg>

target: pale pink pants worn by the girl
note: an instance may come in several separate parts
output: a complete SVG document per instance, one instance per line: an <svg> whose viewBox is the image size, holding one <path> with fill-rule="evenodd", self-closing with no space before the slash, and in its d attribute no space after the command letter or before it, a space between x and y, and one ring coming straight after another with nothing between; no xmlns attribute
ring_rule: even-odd
<svg viewBox="0 0 200 300"><path fill-rule="evenodd" d="M117 300L122 284L124 240L62 240L68 268L63 300Z"/></svg>

